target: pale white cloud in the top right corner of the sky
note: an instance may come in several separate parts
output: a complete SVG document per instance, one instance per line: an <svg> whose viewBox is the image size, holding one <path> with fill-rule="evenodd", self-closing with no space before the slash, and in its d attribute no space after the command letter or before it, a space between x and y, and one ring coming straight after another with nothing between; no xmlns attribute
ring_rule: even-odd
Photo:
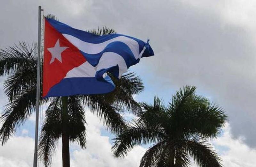
<svg viewBox="0 0 256 167"><path fill-rule="evenodd" d="M248 0L182 0L186 5L200 9L201 11L207 11L213 13L222 19L222 24L225 27L227 24L243 27L246 31L256 31L255 22L255 6L256 1Z"/></svg>

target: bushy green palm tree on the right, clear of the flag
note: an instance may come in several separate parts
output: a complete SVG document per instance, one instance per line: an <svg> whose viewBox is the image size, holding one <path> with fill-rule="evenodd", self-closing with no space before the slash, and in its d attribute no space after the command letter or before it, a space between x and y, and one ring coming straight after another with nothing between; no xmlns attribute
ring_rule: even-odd
<svg viewBox="0 0 256 167"><path fill-rule="evenodd" d="M119 134L112 147L115 157L125 156L135 145L154 143L140 167L189 166L193 158L203 167L218 167L221 160L208 139L216 138L228 117L218 106L196 95L195 86L185 86L165 106L141 103L138 119Z"/></svg>

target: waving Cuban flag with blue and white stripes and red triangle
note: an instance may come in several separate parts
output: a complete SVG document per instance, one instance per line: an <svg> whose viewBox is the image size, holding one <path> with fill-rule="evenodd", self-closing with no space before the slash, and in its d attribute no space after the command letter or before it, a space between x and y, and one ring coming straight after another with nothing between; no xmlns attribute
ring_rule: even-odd
<svg viewBox="0 0 256 167"><path fill-rule="evenodd" d="M154 55L148 42L122 35L95 35L45 18L43 98L103 94L115 89L106 72L120 78L141 57Z"/></svg>

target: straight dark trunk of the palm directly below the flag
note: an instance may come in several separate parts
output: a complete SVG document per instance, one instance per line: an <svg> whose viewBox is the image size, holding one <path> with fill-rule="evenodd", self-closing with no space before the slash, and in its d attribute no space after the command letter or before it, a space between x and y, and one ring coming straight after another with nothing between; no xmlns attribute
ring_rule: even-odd
<svg viewBox="0 0 256 167"><path fill-rule="evenodd" d="M62 100L62 166L70 167L69 161L69 136L68 136L68 97Z"/></svg>

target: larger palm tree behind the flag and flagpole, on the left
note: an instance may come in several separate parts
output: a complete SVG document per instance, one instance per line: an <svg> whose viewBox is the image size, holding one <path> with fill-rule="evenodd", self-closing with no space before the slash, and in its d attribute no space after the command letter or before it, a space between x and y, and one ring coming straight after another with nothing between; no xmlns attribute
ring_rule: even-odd
<svg viewBox="0 0 256 167"><path fill-rule="evenodd" d="M93 33L102 35L115 31L104 27L93 30ZM1 116L2 145L35 111L37 68L35 49L35 45L29 47L25 42L21 42L0 50L0 76L8 76L4 82L4 91L9 100ZM134 94L144 89L141 79L133 73L123 75L120 80L113 77L112 79L116 89L108 94L77 95L62 100L59 97L47 98L40 101L41 105L50 103L45 112L39 144L39 156L45 166L50 166L59 138L62 138L62 163L65 167L70 166L69 141L78 143L82 148L86 147L84 107L98 115L106 128L116 133L126 127L121 116L124 110L134 113L141 110L133 99ZM68 106L66 112L62 112L63 101Z"/></svg>

